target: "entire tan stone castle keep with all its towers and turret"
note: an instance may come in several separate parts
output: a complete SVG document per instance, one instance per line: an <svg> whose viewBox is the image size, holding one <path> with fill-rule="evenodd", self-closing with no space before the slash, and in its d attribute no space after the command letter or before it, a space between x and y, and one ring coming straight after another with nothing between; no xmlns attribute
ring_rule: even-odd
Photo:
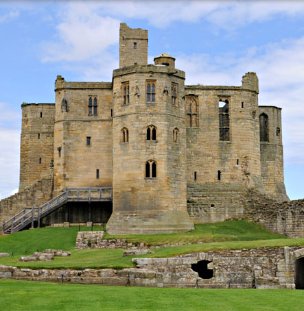
<svg viewBox="0 0 304 311"><path fill-rule="evenodd" d="M147 30L121 23L112 82L58 75L55 93L55 104L21 105L19 193L0 202L1 221L67 188L112 188L110 201L69 201L41 225L151 234L247 217L303 234L301 209L282 203L281 108L258 105L255 73L241 86L185 85L172 56L148 64Z"/></svg>

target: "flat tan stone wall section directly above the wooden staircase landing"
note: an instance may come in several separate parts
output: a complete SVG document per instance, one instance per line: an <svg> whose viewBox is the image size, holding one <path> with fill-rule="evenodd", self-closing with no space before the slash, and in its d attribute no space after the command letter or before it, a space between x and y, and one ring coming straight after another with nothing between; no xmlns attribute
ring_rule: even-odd
<svg viewBox="0 0 304 311"><path fill-rule="evenodd" d="M58 76L55 87L55 193L112 186L112 84L65 82Z"/></svg>

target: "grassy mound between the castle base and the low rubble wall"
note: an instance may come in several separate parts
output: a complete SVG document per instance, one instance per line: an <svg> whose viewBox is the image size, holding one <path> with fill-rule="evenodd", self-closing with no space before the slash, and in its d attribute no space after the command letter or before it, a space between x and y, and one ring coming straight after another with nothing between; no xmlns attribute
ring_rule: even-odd
<svg viewBox="0 0 304 311"><path fill-rule="evenodd" d="M81 230L89 230L81 227ZM93 227L101 230L102 227ZM32 269L84 269L113 268L124 269L135 266L131 257L122 257L122 249L82 249L75 250L78 227L30 229L7 236L0 236L0 253L14 253L14 256L0 258L0 264ZM110 237L110 236L107 236ZM118 236L117 236L118 237ZM119 236L121 237L121 236ZM176 247L154 249L155 253L135 257L172 257L185 253L222 249L254 249L257 247L281 247L304 245L304 238L292 239L279 234L272 234L255 223L248 221L226 221L196 225L196 229L185 234L154 234L126 236L128 241L145 242L149 245L165 242L194 243ZM202 244L195 244L203 241ZM71 251L67 258L56 257L51 262L19 262L19 258L31 255L34 251L62 249Z"/></svg>

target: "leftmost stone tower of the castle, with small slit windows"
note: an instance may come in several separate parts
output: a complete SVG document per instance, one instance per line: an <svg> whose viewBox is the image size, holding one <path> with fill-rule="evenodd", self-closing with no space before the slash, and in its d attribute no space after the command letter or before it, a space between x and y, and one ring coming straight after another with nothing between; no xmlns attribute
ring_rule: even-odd
<svg viewBox="0 0 304 311"><path fill-rule="evenodd" d="M19 191L49 169L54 157L54 103L23 103ZM48 172L49 173L49 172Z"/></svg>

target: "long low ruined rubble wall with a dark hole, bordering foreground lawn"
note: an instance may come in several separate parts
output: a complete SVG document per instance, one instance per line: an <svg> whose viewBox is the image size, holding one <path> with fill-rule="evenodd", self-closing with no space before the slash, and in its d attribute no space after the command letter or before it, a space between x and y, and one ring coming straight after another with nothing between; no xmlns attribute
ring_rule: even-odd
<svg viewBox="0 0 304 311"><path fill-rule="evenodd" d="M303 247L242 249L190 253L174 258L133 258L131 269L17 269L0 266L0 277L35 281L179 288L296 288L295 260ZM209 262L206 271L191 266ZM303 273L297 271L297 273ZM210 275L208 276L210 277ZM301 284L300 284L301 285ZM304 286L304 284L302 284Z"/></svg>

